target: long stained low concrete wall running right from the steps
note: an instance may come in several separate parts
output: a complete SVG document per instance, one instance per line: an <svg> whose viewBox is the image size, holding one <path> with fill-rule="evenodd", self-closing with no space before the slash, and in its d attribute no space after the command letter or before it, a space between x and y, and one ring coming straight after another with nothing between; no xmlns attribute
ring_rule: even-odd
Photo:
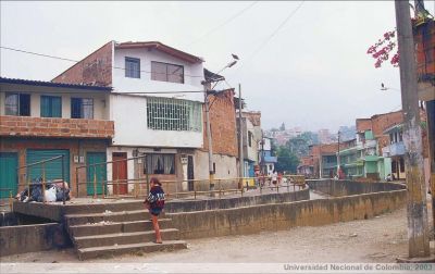
<svg viewBox="0 0 435 274"><path fill-rule="evenodd" d="M185 213L166 213L184 239L251 234L369 219L406 203L407 191L364 194Z"/></svg>

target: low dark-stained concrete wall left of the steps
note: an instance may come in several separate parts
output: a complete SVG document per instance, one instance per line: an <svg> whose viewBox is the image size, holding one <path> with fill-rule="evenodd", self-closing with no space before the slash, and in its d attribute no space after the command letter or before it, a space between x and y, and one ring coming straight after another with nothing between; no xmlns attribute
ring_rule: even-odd
<svg viewBox="0 0 435 274"><path fill-rule="evenodd" d="M0 227L0 257L69 246L67 234L57 223Z"/></svg>

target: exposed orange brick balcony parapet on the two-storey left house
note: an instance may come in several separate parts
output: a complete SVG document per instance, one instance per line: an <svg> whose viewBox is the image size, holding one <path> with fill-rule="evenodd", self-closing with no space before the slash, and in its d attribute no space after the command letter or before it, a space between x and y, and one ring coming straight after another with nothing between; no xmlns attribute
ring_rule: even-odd
<svg viewBox="0 0 435 274"><path fill-rule="evenodd" d="M0 136L113 138L113 121L0 116Z"/></svg>

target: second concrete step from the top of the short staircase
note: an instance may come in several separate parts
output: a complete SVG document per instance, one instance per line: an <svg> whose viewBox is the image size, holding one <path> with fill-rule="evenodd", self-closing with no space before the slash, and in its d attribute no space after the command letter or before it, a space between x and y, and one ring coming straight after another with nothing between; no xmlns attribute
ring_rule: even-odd
<svg viewBox="0 0 435 274"><path fill-rule="evenodd" d="M170 228L171 219L159 219L159 226L160 229ZM152 222L150 220L121 223L104 222L70 226L70 235L72 237L83 237L101 234L146 232L152 229Z"/></svg>

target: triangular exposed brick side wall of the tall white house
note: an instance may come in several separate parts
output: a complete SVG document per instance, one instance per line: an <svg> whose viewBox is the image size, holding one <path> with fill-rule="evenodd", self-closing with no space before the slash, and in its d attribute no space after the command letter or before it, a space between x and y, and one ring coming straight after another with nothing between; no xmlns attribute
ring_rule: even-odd
<svg viewBox="0 0 435 274"><path fill-rule="evenodd" d="M111 86L112 64L112 41L110 41L57 76L52 82Z"/></svg>

